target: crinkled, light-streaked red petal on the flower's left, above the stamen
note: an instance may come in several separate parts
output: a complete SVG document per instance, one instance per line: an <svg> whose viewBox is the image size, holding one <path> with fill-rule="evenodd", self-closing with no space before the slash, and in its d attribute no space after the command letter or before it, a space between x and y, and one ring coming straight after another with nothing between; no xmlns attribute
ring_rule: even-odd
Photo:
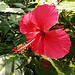
<svg viewBox="0 0 75 75"><path fill-rule="evenodd" d="M37 29L31 22L31 15L32 15L31 12L28 12L28 14L24 14L19 23L20 23L20 32L27 35L29 34L30 37L33 37Z"/></svg>

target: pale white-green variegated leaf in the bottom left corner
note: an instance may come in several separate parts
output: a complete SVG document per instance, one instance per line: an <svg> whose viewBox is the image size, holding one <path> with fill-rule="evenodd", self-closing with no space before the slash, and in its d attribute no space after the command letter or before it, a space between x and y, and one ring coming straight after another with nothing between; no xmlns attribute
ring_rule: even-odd
<svg viewBox="0 0 75 75"><path fill-rule="evenodd" d="M20 63L22 63L22 59L18 59L16 55L8 54L0 56L0 71L3 70L0 75L3 75L3 73L5 73L6 75L23 75L24 69L21 69L22 73L20 70L16 70L16 63L19 65Z"/></svg>

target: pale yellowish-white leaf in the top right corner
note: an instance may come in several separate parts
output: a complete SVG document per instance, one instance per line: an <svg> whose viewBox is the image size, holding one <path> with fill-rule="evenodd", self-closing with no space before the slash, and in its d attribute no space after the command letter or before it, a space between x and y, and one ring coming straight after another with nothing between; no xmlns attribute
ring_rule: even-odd
<svg viewBox="0 0 75 75"><path fill-rule="evenodd" d="M56 6L57 9L60 10L68 10L68 11L75 11L75 1L63 1L59 5Z"/></svg>

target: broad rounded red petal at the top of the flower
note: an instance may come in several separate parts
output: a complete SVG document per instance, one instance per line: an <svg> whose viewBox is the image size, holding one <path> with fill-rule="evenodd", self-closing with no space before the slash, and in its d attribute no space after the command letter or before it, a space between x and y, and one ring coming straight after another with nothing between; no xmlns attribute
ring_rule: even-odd
<svg viewBox="0 0 75 75"><path fill-rule="evenodd" d="M42 31L47 31L58 21L58 12L53 5L40 5L32 12L32 22Z"/></svg>

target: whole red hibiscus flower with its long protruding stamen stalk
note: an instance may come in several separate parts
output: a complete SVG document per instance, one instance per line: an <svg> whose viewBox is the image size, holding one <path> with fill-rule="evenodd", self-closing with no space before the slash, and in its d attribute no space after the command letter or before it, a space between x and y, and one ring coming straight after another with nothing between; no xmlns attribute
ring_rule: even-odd
<svg viewBox="0 0 75 75"><path fill-rule="evenodd" d="M20 23L20 32L25 34L31 50L39 55L52 59L64 57L70 49L71 42L68 34L61 30L48 31L58 21L58 11L53 5L39 5L33 12L24 14ZM18 51L19 51L18 50Z"/></svg>

